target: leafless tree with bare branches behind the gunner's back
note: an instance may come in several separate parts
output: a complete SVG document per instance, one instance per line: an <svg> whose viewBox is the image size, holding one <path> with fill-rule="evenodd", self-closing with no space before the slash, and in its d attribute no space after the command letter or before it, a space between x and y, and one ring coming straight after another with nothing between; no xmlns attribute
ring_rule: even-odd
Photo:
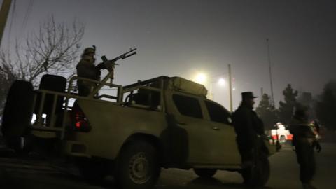
<svg viewBox="0 0 336 189"><path fill-rule="evenodd" d="M16 41L13 53L0 52L0 83L15 79L28 80L34 85L42 73L61 73L73 68L78 57L84 25L74 20L71 25L57 23L51 16L24 43ZM10 84L8 84L10 85ZM8 90L6 86L4 90ZM7 92L7 91L6 91ZM0 109L4 98L0 95Z"/></svg>

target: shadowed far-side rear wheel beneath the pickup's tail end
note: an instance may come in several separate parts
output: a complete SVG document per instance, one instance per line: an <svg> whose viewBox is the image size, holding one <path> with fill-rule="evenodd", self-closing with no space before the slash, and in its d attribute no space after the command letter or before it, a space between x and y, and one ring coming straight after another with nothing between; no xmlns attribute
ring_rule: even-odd
<svg viewBox="0 0 336 189"><path fill-rule="evenodd" d="M76 159L76 165L83 178L94 183L102 181L109 171L105 162L94 158L78 158Z"/></svg>

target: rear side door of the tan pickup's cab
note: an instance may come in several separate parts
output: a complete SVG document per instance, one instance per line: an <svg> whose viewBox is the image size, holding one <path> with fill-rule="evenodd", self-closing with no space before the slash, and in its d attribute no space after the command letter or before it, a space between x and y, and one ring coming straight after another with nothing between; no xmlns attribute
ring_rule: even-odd
<svg viewBox="0 0 336 189"><path fill-rule="evenodd" d="M172 94L167 100L167 109L174 116L174 122L180 130L184 130L184 141L175 145L185 146L186 163L204 164L209 162L209 130L204 125L204 112L200 99L188 94ZM211 131L212 132L212 131Z"/></svg>

